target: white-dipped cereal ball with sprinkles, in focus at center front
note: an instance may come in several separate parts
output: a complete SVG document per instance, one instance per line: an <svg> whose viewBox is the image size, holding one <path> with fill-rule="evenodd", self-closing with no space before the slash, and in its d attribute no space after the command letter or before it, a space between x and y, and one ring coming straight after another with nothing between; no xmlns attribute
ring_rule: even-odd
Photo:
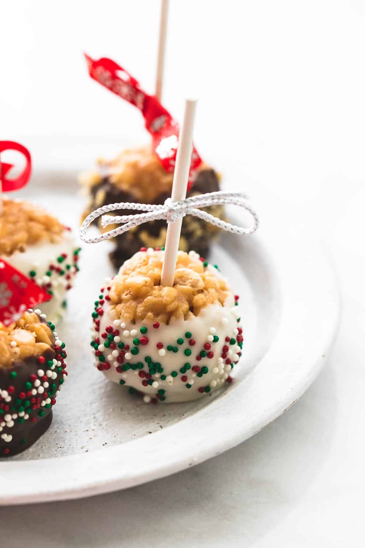
<svg viewBox="0 0 365 548"><path fill-rule="evenodd" d="M173 287L161 286L163 255L141 250L107 279L91 345L107 379L145 402L185 402L230 380L243 341L238 297L195 252L178 252Z"/></svg>

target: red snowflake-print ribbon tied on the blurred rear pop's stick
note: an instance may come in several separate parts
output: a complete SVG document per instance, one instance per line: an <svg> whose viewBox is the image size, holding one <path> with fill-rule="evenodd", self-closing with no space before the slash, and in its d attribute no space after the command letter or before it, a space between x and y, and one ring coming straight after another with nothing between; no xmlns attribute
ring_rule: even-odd
<svg viewBox="0 0 365 548"><path fill-rule="evenodd" d="M144 92L137 80L123 67L107 58L94 61L86 54L85 58L91 78L135 105L142 112L146 129L152 135L154 152L166 171L173 172L179 133L177 122L154 96ZM193 147L188 189L193 184L196 169L201 162L198 152Z"/></svg>

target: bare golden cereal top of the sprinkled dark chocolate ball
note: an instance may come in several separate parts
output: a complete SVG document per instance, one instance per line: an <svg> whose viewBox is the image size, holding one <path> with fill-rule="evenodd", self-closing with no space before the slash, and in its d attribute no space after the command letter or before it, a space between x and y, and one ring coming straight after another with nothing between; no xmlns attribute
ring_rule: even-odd
<svg viewBox="0 0 365 548"><path fill-rule="evenodd" d="M0 368L9 369L14 361L40 356L52 345L50 328L34 312L24 312L8 327L0 322Z"/></svg>

